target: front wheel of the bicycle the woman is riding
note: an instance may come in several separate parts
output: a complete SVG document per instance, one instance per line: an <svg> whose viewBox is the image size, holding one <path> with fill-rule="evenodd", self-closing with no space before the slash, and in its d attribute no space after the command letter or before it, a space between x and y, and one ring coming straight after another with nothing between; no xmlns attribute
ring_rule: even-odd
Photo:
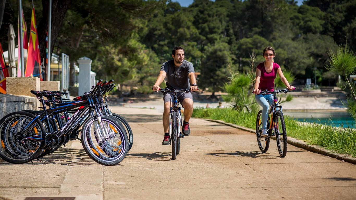
<svg viewBox="0 0 356 200"><path fill-rule="evenodd" d="M279 156L285 157L287 154L287 132L286 124L284 123L283 113L281 111L276 111L274 113L275 122L277 126L274 126L274 133L276 134L276 141L278 147ZM281 133L282 130L282 133Z"/></svg>

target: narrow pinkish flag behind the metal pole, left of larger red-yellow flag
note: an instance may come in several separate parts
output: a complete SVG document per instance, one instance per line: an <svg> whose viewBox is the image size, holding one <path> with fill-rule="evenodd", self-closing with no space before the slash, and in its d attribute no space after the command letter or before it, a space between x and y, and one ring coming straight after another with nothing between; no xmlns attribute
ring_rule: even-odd
<svg viewBox="0 0 356 200"><path fill-rule="evenodd" d="M22 10L22 43L23 43L23 65L26 69L27 62L27 49L28 49L28 40L27 40L27 28L26 28L25 17L23 16ZM21 77L21 59L20 59L20 22L17 23L17 47L19 49L19 57L17 58L17 77Z"/></svg>

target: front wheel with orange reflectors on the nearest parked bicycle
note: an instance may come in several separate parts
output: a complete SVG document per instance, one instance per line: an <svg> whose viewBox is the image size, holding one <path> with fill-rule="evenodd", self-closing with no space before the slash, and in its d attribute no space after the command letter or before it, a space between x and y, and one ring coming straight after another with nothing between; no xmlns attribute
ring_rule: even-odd
<svg viewBox="0 0 356 200"><path fill-rule="evenodd" d="M103 135L98 127L97 118L90 117L84 122L80 133L84 151L95 162L102 165L116 165L120 163L127 154L127 134L116 120L109 116L101 116L102 126L108 130L109 135ZM103 138L103 139L99 139Z"/></svg>

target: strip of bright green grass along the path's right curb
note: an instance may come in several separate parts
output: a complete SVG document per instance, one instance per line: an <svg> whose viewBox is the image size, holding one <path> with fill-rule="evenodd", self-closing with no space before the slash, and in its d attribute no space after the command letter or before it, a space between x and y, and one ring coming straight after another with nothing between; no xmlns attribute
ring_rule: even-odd
<svg viewBox="0 0 356 200"><path fill-rule="evenodd" d="M231 108L195 108L192 117L222 120L246 128L256 129L257 113L238 112ZM318 145L340 154L356 157L356 129L333 126L332 121L324 124L298 122L284 116L287 136Z"/></svg>

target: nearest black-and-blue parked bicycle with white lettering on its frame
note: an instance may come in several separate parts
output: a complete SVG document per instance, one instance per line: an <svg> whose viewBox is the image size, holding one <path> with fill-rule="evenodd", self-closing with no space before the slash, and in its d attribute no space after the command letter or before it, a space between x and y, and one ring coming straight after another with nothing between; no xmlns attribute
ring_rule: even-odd
<svg viewBox="0 0 356 200"><path fill-rule="evenodd" d="M101 114L98 106L101 96L113 86L106 86L105 89L101 82L75 101L58 103L49 109L44 106L40 114L19 111L6 115L0 120L0 157L11 163L29 162L48 149L58 147L66 140L67 134L75 133L82 127L82 145L90 158L103 165L121 162L127 154L127 134L114 117ZM31 93L36 94L43 105L50 102L43 99L48 91ZM76 110L73 116L56 131L54 128L57 125L53 125L47 116L73 109Z"/></svg>

